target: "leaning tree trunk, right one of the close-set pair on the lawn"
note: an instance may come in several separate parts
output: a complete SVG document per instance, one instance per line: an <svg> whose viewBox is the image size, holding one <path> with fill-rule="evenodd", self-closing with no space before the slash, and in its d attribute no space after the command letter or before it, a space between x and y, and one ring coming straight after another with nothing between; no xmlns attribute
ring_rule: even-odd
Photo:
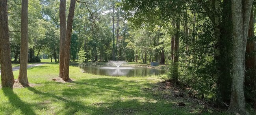
<svg viewBox="0 0 256 115"><path fill-rule="evenodd" d="M69 78L70 41L71 41L72 23L74 18L75 5L76 5L76 0L70 0L69 16L67 21L67 31L66 31L66 39L65 39L64 71L63 71L63 77L62 77L64 81L68 81L70 79Z"/></svg>

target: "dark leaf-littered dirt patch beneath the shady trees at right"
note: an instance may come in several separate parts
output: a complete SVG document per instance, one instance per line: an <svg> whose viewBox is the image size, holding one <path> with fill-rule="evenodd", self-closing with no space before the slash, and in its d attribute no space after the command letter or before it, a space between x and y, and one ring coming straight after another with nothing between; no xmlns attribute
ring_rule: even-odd
<svg viewBox="0 0 256 115"><path fill-rule="evenodd" d="M200 108L201 113L205 113L210 108L215 111L223 111L214 107L211 100L204 99L196 92L192 92L184 84L175 84L172 81L158 82L154 87L155 91L161 92L162 98L173 100L178 106L187 106L193 110Z"/></svg>

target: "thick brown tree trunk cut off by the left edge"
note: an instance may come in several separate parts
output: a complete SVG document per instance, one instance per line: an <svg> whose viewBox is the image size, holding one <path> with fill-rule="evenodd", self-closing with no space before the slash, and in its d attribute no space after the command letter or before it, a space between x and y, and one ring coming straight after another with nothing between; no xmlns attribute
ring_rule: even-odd
<svg viewBox="0 0 256 115"><path fill-rule="evenodd" d="M14 77L11 68L7 0L0 0L0 64L2 87L13 87Z"/></svg>

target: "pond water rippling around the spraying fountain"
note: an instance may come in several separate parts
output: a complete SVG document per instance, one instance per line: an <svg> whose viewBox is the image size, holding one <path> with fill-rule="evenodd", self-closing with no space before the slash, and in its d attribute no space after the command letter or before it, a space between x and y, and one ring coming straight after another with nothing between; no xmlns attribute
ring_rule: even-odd
<svg viewBox="0 0 256 115"><path fill-rule="evenodd" d="M150 75L162 75L166 69L153 69L141 67L109 67L107 65L86 65L81 67L84 73L106 76L145 77Z"/></svg>

